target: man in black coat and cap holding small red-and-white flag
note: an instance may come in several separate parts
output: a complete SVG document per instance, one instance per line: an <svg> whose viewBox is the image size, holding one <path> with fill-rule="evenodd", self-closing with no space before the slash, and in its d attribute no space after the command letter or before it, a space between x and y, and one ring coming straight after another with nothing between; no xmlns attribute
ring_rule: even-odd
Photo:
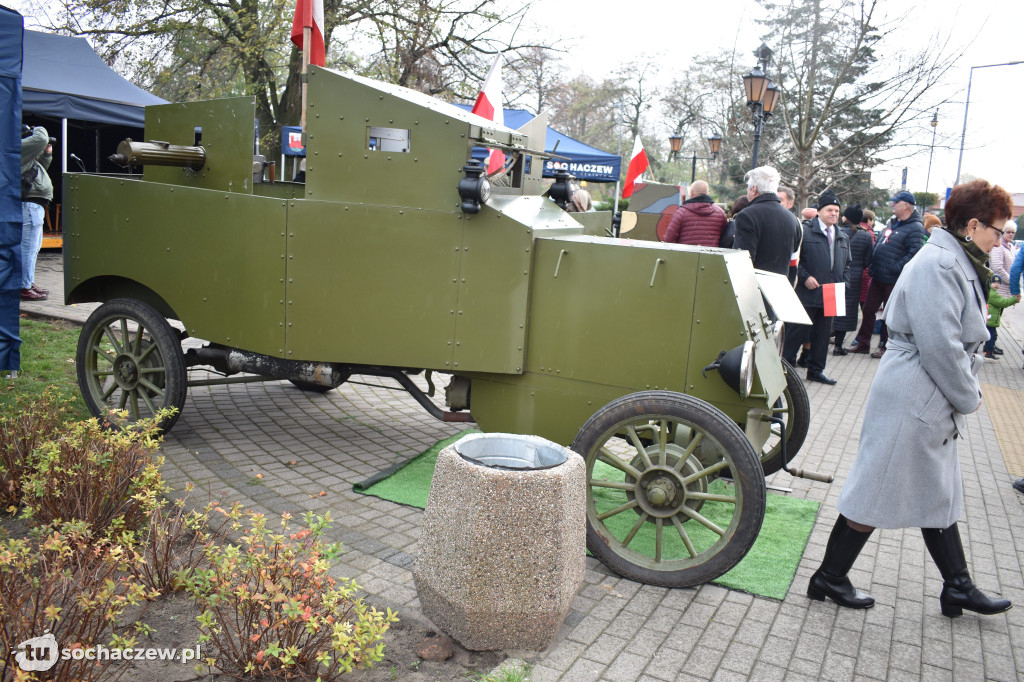
<svg viewBox="0 0 1024 682"><path fill-rule="evenodd" d="M850 278L850 240L836 224L839 209L835 191L825 189L821 193L818 216L804 227L804 243L800 247L800 264L797 267L797 296L811 318L807 380L828 385L836 383L824 373L833 317L825 315L821 286L846 283ZM806 337L806 327L803 330L798 328L785 335L782 356L790 365L796 365L797 349Z"/></svg>

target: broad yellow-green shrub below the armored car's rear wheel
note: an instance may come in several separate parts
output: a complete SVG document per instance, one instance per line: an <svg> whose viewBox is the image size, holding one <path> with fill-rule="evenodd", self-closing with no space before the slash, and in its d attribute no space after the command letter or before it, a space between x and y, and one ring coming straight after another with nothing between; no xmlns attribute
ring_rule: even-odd
<svg viewBox="0 0 1024 682"><path fill-rule="evenodd" d="M96 537L131 541L166 489L163 459L154 459L158 420L124 431L94 419L66 424L35 449L22 482L24 516L42 524L77 519Z"/></svg>

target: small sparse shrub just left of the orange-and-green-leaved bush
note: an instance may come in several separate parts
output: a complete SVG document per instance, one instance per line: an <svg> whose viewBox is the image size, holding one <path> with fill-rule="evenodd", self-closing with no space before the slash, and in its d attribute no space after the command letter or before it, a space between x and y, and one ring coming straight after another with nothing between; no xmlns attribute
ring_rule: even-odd
<svg viewBox="0 0 1024 682"><path fill-rule="evenodd" d="M156 593L183 590L197 568L209 567L207 550L223 539L224 526L231 521L224 517L217 525L210 523L213 502L186 511L193 489L188 483L183 497L171 503L162 500L154 507L148 526L143 528L135 548L137 560L131 564L132 573Z"/></svg>

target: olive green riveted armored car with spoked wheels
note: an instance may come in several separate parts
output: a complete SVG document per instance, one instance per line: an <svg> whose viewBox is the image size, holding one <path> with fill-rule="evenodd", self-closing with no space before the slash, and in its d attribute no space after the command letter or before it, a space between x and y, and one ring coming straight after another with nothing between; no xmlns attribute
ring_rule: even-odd
<svg viewBox="0 0 1024 682"><path fill-rule="evenodd" d="M745 252L585 233L559 208L571 184L542 181L543 118L510 130L308 81L304 183L254 161L251 97L148 106L146 141L116 157L141 174L65 176L67 303L102 303L78 347L90 411L180 413L193 370L311 391L387 377L439 419L579 452L588 545L623 576L687 586L738 562L764 472L807 429L778 352L799 308L784 278ZM488 178L474 147L506 166ZM443 407L422 388L439 379Z"/></svg>

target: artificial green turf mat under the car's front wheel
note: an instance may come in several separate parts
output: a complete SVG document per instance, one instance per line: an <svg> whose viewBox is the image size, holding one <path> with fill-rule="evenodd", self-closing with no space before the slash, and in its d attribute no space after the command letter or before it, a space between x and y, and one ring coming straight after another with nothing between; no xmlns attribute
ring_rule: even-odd
<svg viewBox="0 0 1024 682"><path fill-rule="evenodd" d="M427 495L430 492L430 480L434 474L437 454L466 433L473 432L474 429L466 429L462 433L439 440L412 460L382 471L361 483L356 483L353 489L364 495L423 509L427 506ZM623 475L617 469L598 462L595 477L622 480ZM731 487L730 483L716 480L709 493L731 494ZM594 495L595 505L601 511L617 507L626 501L625 494L621 491L597 488ZM811 528L814 527L818 507L819 503L812 500L799 500L769 493L764 523L754 546L742 561L715 582L724 587L764 597L784 598L804 554ZM707 502L699 513L711 521L725 526L729 523L731 508L729 504ZM606 524L616 538L622 539L629 532L636 519L637 516L629 511L610 517ZM717 537L693 521L686 524L686 531L698 551L710 546ZM653 525L646 524L630 543L630 548L652 556L653 543ZM673 531L664 535L663 555L667 558L686 556L686 549L678 534Z"/></svg>

